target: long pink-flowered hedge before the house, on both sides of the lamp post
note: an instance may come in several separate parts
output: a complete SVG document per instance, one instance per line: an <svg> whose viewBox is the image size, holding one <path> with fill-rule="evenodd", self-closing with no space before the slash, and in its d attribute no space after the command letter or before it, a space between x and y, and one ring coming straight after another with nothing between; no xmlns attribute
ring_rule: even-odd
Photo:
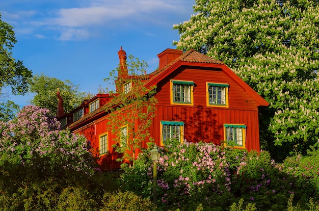
<svg viewBox="0 0 319 211"><path fill-rule="evenodd" d="M303 183L292 167L277 164L267 151L258 154L204 142L179 144L176 140L159 151L157 204L163 210L195 210L198 205L203 210L228 210L240 199L261 210L285 210L291 194L296 203L305 205L318 193L313 183ZM149 152L124 170L122 188L151 198Z"/></svg>

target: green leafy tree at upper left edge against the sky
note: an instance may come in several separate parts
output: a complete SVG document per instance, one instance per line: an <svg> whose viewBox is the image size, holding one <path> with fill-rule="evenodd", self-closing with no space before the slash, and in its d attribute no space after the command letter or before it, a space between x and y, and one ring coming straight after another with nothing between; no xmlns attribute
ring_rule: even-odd
<svg viewBox="0 0 319 211"><path fill-rule="evenodd" d="M2 89L7 86L11 87L12 94L28 91L32 71L24 67L22 61L15 61L12 57L11 50L16 42L13 27L0 19L0 96Z"/></svg>

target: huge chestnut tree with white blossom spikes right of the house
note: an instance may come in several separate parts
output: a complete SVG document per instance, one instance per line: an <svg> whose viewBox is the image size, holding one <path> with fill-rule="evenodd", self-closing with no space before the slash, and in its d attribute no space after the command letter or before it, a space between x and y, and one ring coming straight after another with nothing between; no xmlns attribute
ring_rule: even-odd
<svg viewBox="0 0 319 211"><path fill-rule="evenodd" d="M261 112L261 146L304 152L317 143L318 1L195 2L195 15L174 25L180 40L173 43L224 61L270 102Z"/></svg>

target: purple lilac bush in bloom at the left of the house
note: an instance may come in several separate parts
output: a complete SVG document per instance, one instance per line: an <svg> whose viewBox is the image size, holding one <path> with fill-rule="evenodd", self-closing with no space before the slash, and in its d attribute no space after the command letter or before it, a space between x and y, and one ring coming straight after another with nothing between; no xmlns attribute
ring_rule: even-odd
<svg viewBox="0 0 319 211"><path fill-rule="evenodd" d="M83 136L60 130L49 110L24 107L9 122L0 122L0 153L18 157L20 164L41 163L47 169L93 172L92 157Z"/></svg>

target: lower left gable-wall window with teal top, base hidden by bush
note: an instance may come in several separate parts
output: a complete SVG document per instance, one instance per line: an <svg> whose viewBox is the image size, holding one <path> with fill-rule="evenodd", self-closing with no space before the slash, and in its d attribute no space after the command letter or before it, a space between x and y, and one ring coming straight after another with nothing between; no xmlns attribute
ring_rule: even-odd
<svg viewBox="0 0 319 211"><path fill-rule="evenodd" d="M167 139L176 138L180 143L183 142L183 122L161 121L161 145L163 146Z"/></svg>

